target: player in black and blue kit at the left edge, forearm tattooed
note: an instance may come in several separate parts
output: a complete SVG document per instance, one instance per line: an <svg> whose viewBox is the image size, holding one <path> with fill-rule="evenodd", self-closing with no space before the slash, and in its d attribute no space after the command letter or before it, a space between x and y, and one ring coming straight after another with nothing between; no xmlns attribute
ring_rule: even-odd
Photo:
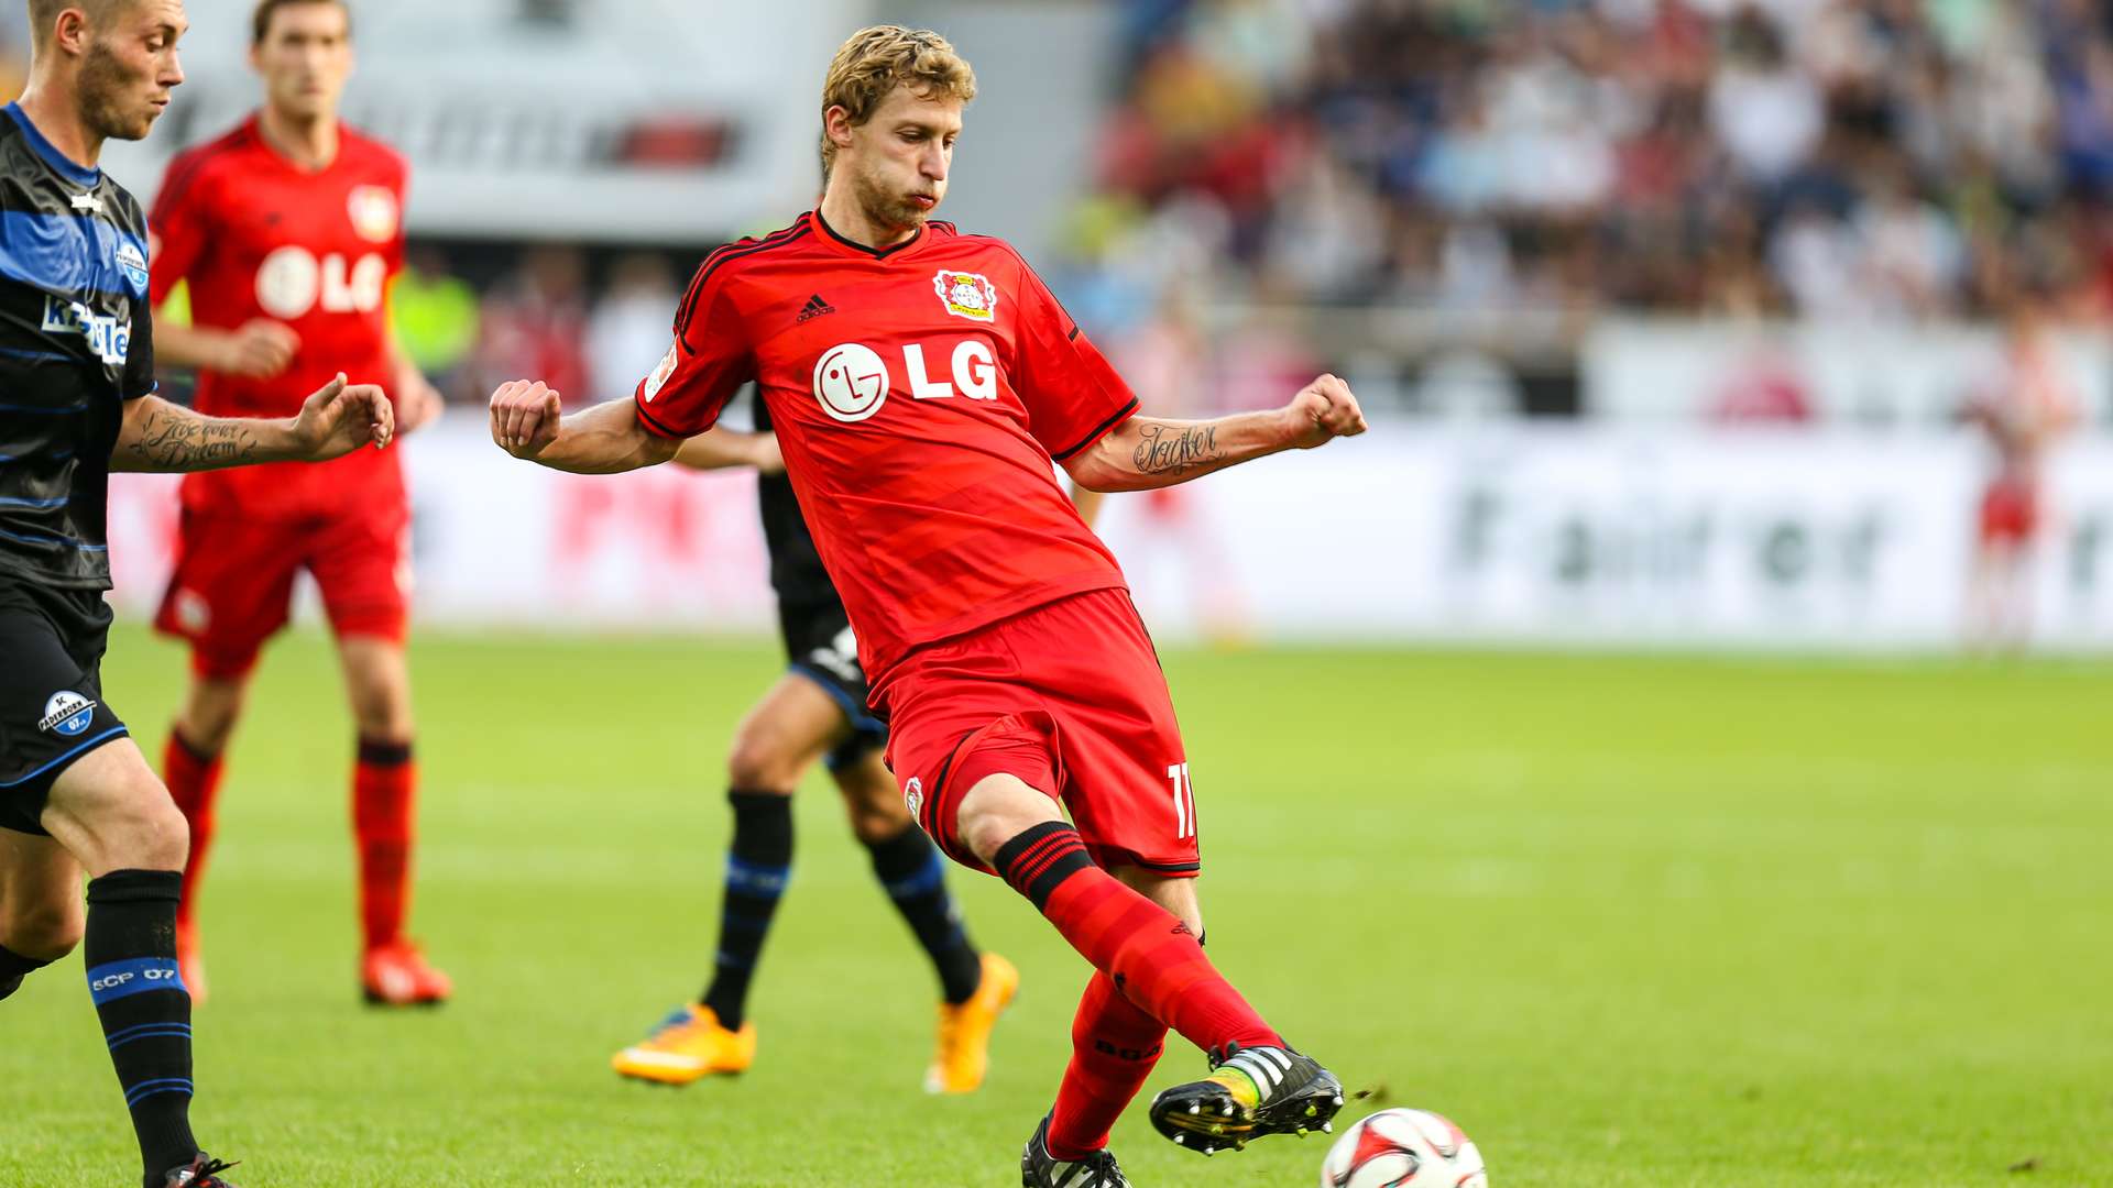
<svg viewBox="0 0 2113 1188"><path fill-rule="evenodd" d="M184 80L184 6L30 0L30 89L0 114L0 998L85 943L142 1184L226 1188L190 1133L184 818L101 689L108 476L334 459L395 421L342 374L281 419L154 395L146 216L97 161Z"/></svg>

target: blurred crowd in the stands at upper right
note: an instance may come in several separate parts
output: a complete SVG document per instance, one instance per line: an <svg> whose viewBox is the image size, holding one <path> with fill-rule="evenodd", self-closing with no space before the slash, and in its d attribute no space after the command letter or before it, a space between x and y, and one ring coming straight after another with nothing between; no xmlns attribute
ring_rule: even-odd
<svg viewBox="0 0 2113 1188"><path fill-rule="evenodd" d="M1135 0L1082 271L1426 309L2113 307L2105 0Z"/></svg>

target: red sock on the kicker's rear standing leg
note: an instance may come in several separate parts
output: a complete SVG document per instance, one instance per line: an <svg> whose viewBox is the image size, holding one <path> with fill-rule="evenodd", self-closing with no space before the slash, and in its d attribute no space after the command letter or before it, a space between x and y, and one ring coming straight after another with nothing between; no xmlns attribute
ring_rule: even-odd
<svg viewBox="0 0 2113 1188"><path fill-rule="evenodd" d="M1107 1131L1160 1063L1166 1023L1116 994L1095 970L1071 1019L1071 1065L1056 1087L1050 1114L1050 1156L1076 1163L1107 1146Z"/></svg>

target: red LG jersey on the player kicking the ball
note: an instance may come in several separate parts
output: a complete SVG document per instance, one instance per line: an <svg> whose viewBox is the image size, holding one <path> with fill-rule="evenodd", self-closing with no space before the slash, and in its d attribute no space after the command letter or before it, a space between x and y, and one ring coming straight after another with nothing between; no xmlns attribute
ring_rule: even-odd
<svg viewBox="0 0 2113 1188"><path fill-rule="evenodd" d="M932 222L873 249L809 211L721 247L638 385L638 419L702 433L746 380L875 704L917 645L1124 586L1052 461L1099 442L1137 397L1004 241Z"/></svg>

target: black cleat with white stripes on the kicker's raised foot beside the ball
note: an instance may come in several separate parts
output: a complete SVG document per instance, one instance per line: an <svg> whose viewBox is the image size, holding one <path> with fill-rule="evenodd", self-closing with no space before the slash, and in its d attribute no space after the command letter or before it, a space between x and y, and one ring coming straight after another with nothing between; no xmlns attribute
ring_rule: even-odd
<svg viewBox="0 0 2113 1188"><path fill-rule="evenodd" d="M1152 1125L1175 1146L1217 1154L1261 1135L1333 1129L1342 1082L1310 1057L1285 1048L1230 1046L1211 1053L1211 1076L1152 1099Z"/></svg>

